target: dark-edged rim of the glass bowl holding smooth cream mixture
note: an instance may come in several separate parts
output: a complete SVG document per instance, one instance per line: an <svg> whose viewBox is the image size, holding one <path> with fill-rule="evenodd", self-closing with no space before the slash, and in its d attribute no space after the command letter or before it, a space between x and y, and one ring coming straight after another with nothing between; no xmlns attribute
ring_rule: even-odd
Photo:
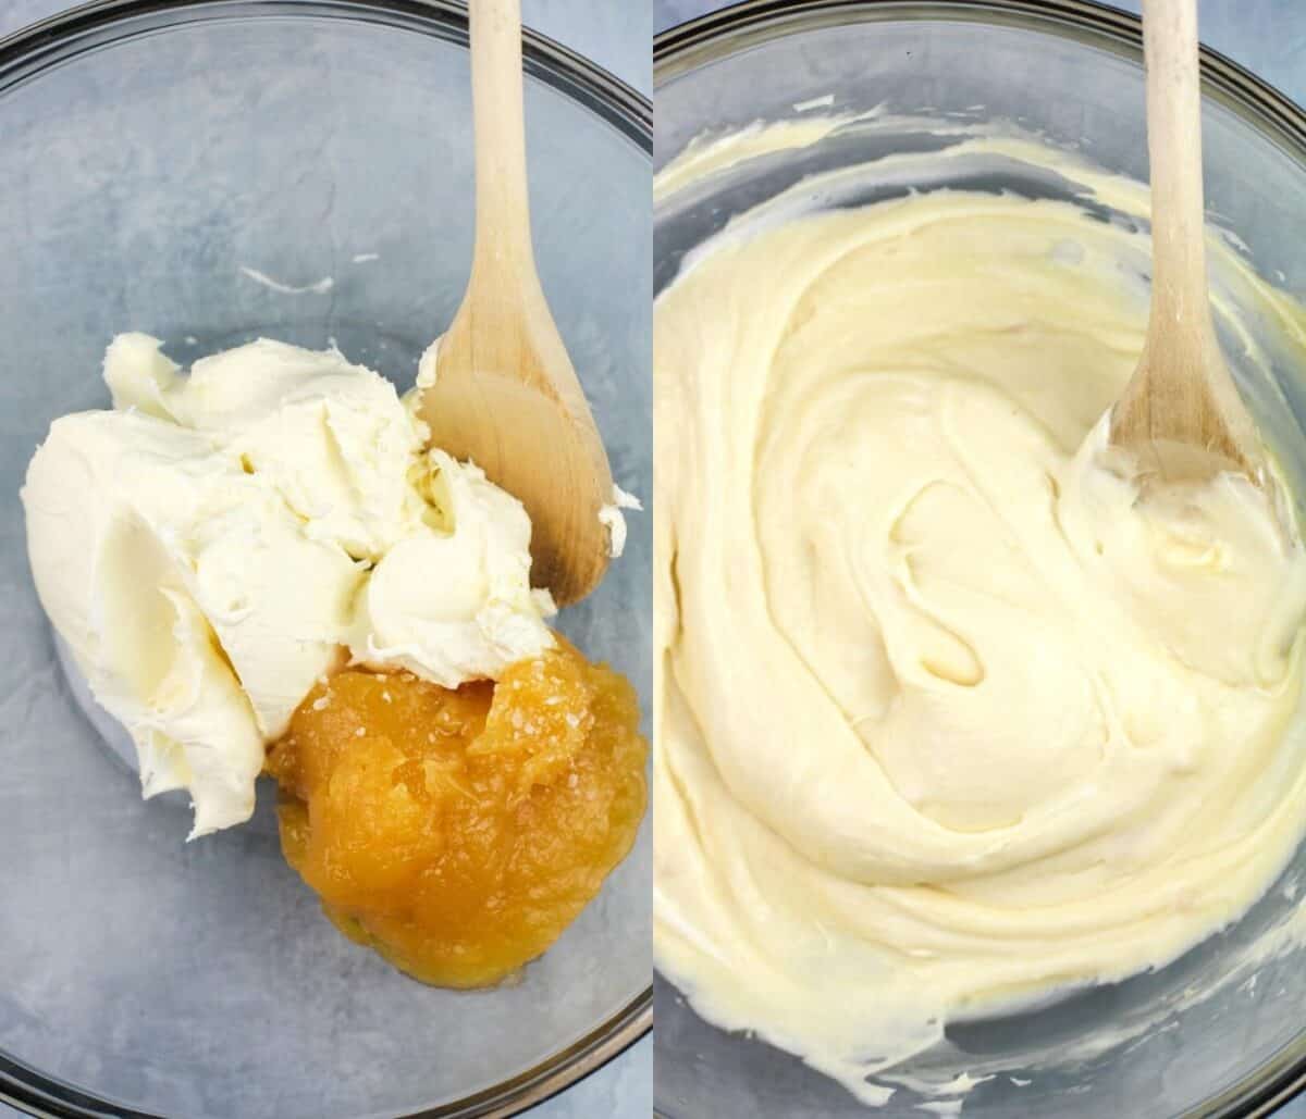
<svg viewBox="0 0 1306 1119"><path fill-rule="evenodd" d="M708 63L799 31L850 22L952 20L1029 27L1143 61L1143 21L1097 0L741 0L653 37L653 91ZM1200 48L1203 97L1224 104L1306 167L1306 111L1251 70ZM674 155L674 153L670 153ZM656 966L656 961L654 961ZM661 973L660 973L661 974ZM675 987L671 979L666 982ZM1267 1119L1306 1092L1306 1026L1242 1080L1186 1112ZM654 1119L674 1119L653 1099Z"/></svg>

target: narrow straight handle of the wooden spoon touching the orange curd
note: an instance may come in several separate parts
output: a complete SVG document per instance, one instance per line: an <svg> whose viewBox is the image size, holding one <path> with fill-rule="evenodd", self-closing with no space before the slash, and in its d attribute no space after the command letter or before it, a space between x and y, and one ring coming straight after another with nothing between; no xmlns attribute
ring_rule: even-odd
<svg viewBox="0 0 1306 1119"><path fill-rule="evenodd" d="M534 273L521 94L521 0L471 0L477 150L473 269L490 280Z"/></svg>

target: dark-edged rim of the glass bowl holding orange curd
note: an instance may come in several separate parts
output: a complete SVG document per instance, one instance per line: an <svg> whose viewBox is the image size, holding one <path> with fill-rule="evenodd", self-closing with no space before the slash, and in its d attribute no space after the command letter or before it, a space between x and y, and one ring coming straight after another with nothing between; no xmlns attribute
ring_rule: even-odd
<svg viewBox="0 0 1306 1119"><path fill-rule="evenodd" d="M229 18L366 20L468 46L462 0L90 0L0 37L0 95L76 56L149 30ZM522 69L620 132L652 162L653 102L562 43L522 29ZM564 1092L653 1030L653 983L593 1030L538 1064L462 1099L396 1119L507 1119ZM0 1103L42 1119L166 1119L67 1084L0 1049Z"/></svg>

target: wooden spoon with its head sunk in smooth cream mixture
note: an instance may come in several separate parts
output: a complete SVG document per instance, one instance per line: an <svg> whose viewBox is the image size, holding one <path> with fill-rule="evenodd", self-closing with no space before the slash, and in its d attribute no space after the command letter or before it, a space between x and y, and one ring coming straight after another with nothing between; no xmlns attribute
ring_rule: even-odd
<svg viewBox="0 0 1306 1119"><path fill-rule="evenodd" d="M1267 484L1264 451L1220 353L1203 244L1196 0L1143 0L1152 163L1152 314L1111 443L1165 481L1222 471Z"/></svg>

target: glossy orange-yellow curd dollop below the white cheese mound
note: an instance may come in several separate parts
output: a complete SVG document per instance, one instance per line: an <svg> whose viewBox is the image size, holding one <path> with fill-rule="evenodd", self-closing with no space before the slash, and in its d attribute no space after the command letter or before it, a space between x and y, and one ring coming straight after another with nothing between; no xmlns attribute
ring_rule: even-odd
<svg viewBox="0 0 1306 1119"><path fill-rule="evenodd" d="M635 690L556 647L456 690L346 670L266 768L286 859L350 939L427 983L498 983L542 953L644 815Z"/></svg>

